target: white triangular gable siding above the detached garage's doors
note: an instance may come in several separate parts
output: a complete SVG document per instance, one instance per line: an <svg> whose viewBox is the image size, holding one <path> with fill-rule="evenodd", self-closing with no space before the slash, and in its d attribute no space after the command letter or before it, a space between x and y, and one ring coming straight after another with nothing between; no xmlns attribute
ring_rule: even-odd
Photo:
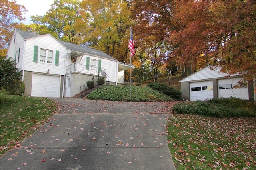
<svg viewBox="0 0 256 170"><path fill-rule="evenodd" d="M203 68L202 70L199 70L198 72L191 74L190 76L187 76L186 78L183 78L182 80L180 80L180 82L206 80L212 78L220 78L224 76L228 76L228 74L220 72L220 68L217 68L216 70L210 70L210 66L208 66L206 68Z"/></svg>

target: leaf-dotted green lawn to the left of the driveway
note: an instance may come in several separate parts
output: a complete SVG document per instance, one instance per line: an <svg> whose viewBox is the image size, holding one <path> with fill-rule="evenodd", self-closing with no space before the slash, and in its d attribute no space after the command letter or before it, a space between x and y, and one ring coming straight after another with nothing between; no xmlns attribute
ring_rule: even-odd
<svg viewBox="0 0 256 170"><path fill-rule="evenodd" d="M1 90L1 155L46 123L57 105L46 98L15 96Z"/></svg>

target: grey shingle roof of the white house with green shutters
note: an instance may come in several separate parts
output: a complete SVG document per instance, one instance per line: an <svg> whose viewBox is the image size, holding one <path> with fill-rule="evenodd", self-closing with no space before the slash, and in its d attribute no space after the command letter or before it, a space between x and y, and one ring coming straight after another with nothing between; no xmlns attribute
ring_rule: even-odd
<svg viewBox="0 0 256 170"><path fill-rule="evenodd" d="M33 38L33 37L38 37L40 35L36 35L34 33L29 33L29 32L26 32L26 31L21 31L21 30L18 30L16 29L16 31L24 38L24 39L28 39L28 38ZM57 40L57 39L56 39ZM60 41L60 40L57 40L59 41L64 47L66 47L67 49L70 49L70 50L73 50L73 51L78 51L78 52L82 52L82 53L87 53L89 55L96 55L98 57L104 57L104 58L107 58L107 59L111 59L111 60L116 60L118 61L117 59L115 59L114 57L111 57L110 55L107 55L106 53L103 53L102 51L100 50L96 50L96 49L92 49L92 48L88 48L88 47L84 47L84 46L81 46L81 45L76 45L76 44L72 44L72 43L68 43L68 42L65 42L65 41Z"/></svg>

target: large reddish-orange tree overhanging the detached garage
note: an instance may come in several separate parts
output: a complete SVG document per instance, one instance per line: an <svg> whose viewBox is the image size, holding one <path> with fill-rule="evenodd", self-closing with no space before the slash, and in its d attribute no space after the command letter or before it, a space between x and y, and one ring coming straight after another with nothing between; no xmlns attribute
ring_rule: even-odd
<svg viewBox="0 0 256 170"><path fill-rule="evenodd" d="M222 72L256 77L256 2L179 1L174 18L180 29L171 31L176 45L173 55L194 70L206 64L221 66Z"/></svg>

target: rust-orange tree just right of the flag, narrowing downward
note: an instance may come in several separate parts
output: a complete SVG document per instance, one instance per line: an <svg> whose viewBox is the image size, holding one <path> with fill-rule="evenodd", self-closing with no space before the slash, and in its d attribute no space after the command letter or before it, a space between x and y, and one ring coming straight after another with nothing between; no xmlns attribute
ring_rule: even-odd
<svg viewBox="0 0 256 170"><path fill-rule="evenodd" d="M131 18L137 53L145 53L151 63L155 80L170 52L168 31L175 29L172 21L174 1L133 1Z"/></svg>

